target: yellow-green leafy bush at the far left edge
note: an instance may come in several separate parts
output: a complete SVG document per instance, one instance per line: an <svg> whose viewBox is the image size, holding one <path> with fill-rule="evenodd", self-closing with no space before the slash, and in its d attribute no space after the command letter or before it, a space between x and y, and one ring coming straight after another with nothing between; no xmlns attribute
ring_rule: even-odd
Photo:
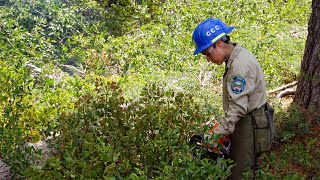
<svg viewBox="0 0 320 180"><path fill-rule="evenodd" d="M33 160L28 159L32 149L24 146L27 136L23 129L28 126L20 122L32 103L26 98L30 97L33 83L26 68L8 66L2 61L0 82L0 157L11 166L13 175L21 175Z"/></svg>

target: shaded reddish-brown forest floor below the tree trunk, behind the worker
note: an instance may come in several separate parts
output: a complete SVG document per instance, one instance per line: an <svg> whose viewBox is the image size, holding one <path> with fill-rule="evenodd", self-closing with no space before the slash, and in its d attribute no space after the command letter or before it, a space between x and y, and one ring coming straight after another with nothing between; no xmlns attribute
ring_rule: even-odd
<svg viewBox="0 0 320 180"><path fill-rule="evenodd" d="M294 96L281 98L283 107L290 107L293 98ZM311 180L320 178L319 117L313 116L306 123L309 127L307 133L295 135L289 139L277 139L271 153L264 160L264 163L269 166L268 171L277 178L302 177Z"/></svg>

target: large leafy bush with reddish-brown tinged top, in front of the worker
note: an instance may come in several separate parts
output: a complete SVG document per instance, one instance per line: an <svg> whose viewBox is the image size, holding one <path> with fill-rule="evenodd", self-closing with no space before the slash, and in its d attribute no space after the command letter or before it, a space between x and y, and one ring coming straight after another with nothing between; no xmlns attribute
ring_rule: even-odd
<svg viewBox="0 0 320 180"><path fill-rule="evenodd" d="M56 154L29 177L41 178L226 178L225 161L196 160L188 141L203 118L193 98L145 88L126 102L114 83L96 79L73 111L63 112L51 142Z"/></svg>

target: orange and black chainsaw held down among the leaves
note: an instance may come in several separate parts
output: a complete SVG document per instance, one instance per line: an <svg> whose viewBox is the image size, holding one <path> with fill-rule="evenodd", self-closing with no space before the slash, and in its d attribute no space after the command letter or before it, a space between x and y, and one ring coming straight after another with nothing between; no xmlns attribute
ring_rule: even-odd
<svg viewBox="0 0 320 180"><path fill-rule="evenodd" d="M190 138L189 144L193 147L191 152L193 157L198 159L208 158L211 160L229 159L230 136L213 134L214 129L219 124L216 123L210 130L209 134L203 136L194 134Z"/></svg>

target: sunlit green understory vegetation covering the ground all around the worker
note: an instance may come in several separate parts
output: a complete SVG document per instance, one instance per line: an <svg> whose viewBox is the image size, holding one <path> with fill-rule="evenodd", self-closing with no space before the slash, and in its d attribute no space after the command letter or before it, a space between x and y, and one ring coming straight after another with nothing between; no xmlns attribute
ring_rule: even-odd
<svg viewBox="0 0 320 180"><path fill-rule="evenodd" d="M310 0L0 0L0 159L22 179L226 179L232 162L190 153L223 116L224 72L193 56L192 31L236 26L272 90L297 80L310 13ZM268 94L277 143L257 174L319 177L319 128L286 100ZM26 146L39 141L49 153Z"/></svg>

